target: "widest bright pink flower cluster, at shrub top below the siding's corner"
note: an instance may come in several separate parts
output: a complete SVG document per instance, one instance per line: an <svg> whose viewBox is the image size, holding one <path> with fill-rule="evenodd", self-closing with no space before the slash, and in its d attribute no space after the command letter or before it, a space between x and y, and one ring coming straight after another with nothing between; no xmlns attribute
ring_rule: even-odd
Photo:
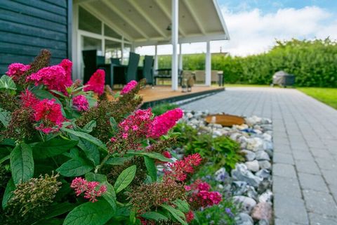
<svg viewBox="0 0 337 225"><path fill-rule="evenodd" d="M64 59L59 65L52 65L32 73L27 82L35 82L35 86L44 84L50 90L60 91L67 95L67 86L72 86L72 62Z"/></svg>

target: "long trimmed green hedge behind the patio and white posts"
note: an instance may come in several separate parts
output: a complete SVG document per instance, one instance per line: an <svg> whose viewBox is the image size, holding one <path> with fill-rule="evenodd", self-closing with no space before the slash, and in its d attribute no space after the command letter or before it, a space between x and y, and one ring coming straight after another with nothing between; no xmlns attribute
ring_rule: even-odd
<svg viewBox="0 0 337 225"><path fill-rule="evenodd" d="M184 70L204 70L204 54L183 56ZM171 56L160 56L159 68L171 67ZM247 57L212 55L212 69L223 70L225 82L270 84L284 70L296 75L296 86L337 87L337 41L292 39L277 41L267 53Z"/></svg>

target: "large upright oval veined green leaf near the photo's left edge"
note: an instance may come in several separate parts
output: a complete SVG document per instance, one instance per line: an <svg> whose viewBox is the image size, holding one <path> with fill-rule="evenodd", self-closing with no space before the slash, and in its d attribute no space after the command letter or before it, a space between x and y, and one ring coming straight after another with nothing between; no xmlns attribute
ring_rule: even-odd
<svg viewBox="0 0 337 225"><path fill-rule="evenodd" d="M33 177L34 160L32 148L26 143L16 146L11 152L11 171L14 184L25 182Z"/></svg>

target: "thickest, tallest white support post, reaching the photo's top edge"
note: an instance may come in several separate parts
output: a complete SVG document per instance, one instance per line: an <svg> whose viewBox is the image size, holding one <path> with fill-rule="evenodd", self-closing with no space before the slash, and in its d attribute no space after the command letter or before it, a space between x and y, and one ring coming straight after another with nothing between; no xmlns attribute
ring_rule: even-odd
<svg viewBox="0 0 337 225"><path fill-rule="evenodd" d="M178 90L178 0L172 0L172 89Z"/></svg>

